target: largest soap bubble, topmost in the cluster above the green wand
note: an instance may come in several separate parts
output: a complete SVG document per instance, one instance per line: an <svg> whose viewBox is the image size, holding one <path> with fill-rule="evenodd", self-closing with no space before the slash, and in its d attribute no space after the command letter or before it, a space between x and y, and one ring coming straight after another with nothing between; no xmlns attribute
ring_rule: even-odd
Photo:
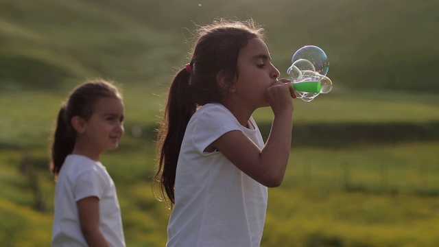
<svg viewBox="0 0 439 247"><path fill-rule="evenodd" d="M315 68L314 71L320 73L320 75L327 75L329 70L328 56L322 49L320 49L320 47L307 45L298 49L296 53L294 53L291 62L294 63L300 59L305 59L311 62Z"/></svg>

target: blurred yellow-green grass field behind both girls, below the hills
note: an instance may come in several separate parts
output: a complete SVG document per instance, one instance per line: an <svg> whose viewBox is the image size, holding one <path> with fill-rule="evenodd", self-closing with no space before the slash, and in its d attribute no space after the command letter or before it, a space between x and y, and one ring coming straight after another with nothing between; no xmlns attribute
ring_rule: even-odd
<svg viewBox="0 0 439 247"><path fill-rule="evenodd" d="M123 91L126 136L118 150L104 154L103 163L117 185L128 246L163 246L169 211L152 195L150 180L155 166L151 130L161 114L165 98L158 95L164 91L130 85L123 85ZM47 170L48 136L65 93L17 91L0 97L2 106L13 106L2 108L0 121L0 239L6 246L49 244L54 182ZM310 103L296 100L294 124L423 125L439 121L438 113L434 100L334 93ZM269 109L255 114L261 126L270 116ZM134 128L143 130L140 138L131 134ZM269 191L262 246L439 244L439 141L332 147L300 142L292 144L283 185Z"/></svg>

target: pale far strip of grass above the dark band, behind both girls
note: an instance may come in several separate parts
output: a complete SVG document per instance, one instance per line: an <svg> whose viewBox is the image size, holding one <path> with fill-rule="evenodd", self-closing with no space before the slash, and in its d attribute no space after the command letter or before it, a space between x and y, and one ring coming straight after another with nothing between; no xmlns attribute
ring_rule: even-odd
<svg viewBox="0 0 439 247"><path fill-rule="evenodd" d="M80 82L78 82L79 84ZM77 84L72 84L75 86ZM127 134L133 126L153 128L162 116L166 86L121 84L126 106ZM69 89L70 90L70 89ZM1 94L2 145L46 145L54 119L69 91L17 91ZM319 95L313 102L295 99L294 124L307 123L428 123L439 121L439 104L383 97L353 97L346 95ZM261 108L254 114L257 122L271 122L270 108Z"/></svg>

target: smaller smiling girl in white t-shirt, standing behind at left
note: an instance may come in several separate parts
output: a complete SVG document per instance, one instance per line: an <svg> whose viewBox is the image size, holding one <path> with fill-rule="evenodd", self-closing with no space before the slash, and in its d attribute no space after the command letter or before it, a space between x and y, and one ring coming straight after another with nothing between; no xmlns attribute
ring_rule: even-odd
<svg viewBox="0 0 439 247"><path fill-rule="evenodd" d="M125 246L115 184L99 162L122 135L123 102L112 84L86 82L62 105L51 152L52 246Z"/></svg>

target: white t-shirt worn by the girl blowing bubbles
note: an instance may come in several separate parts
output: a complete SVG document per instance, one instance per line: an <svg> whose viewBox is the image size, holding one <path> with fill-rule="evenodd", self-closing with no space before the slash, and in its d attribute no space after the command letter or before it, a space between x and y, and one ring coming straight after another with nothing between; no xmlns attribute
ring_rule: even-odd
<svg viewBox="0 0 439 247"><path fill-rule="evenodd" d="M263 148L254 120L241 126L222 104L206 104L191 117L178 158L176 204L167 247L257 247L261 244L267 187L241 172L221 152L203 152L231 130Z"/></svg>

